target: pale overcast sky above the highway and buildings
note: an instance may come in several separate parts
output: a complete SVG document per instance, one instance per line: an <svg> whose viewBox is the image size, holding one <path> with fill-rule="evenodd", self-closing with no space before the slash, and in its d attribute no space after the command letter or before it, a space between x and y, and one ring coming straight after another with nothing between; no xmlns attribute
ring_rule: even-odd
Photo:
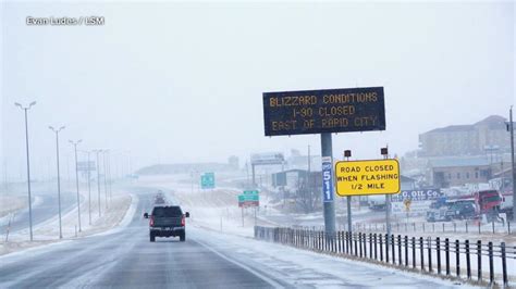
<svg viewBox="0 0 516 289"><path fill-rule="evenodd" d="M1 152L25 177L54 167L62 131L84 149L132 152L136 166L231 154L319 152L318 135L265 137L262 92L383 86L386 130L333 135L334 155L403 154L418 134L515 103L515 8L501 3L1 4ZM26 17L106 17L103 26L27 26ZM36 176L37 178L38 176Z"/></svg>

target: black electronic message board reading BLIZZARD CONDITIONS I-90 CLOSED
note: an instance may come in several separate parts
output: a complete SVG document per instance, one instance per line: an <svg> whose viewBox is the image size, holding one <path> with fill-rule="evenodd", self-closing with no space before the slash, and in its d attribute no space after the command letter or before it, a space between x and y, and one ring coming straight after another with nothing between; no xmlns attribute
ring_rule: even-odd
<svg viewBox="0 0 516 289"><path fill-rule="evenodd" d="M263 93L266 136L385 130L383 87Z"/></svg>

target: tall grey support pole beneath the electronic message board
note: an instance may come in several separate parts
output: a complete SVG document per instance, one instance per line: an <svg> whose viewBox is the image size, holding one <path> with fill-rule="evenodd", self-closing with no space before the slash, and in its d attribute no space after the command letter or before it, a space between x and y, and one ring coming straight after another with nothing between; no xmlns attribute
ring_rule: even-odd
<svg viewBox="0 0 516 289"><path fill-rule="evenodd" d="M323 133L321 134L321 156L328 156L331 160L333 160L333 153L332 153L332 140L331 140L331 134L330 133ZM331 171L333 171L333 163L330 165ZM335 203L333 201L333 172L330 172L331 174L331 179L330 179L330 186L331 186L331 196L330 198L325 198L323 196L323 210L324 210L324 231L328 236L333 236L335 233ZM323 190L324 190L324 184L322 185Z"/></svg>

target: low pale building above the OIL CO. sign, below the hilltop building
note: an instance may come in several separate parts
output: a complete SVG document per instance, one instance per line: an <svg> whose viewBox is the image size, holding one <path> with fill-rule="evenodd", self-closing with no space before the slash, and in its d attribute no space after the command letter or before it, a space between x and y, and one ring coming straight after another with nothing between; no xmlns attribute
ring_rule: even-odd
<svg viewBox="0 0 516 289"><path fill-rule="evenodd" d="M492 177L487 156L439 158L428 162L428 179L437 188L488 183Z"/></svg>

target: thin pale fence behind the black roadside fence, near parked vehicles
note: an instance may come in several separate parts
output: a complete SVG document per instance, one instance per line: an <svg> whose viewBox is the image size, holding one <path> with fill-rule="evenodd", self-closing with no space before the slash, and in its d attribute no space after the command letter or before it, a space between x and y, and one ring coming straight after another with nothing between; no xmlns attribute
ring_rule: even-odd
<svg viewBox="0 0 516 289"><path fill-rule="evenodd" d="M397 233L466 233L466 234L514 234L511 222L480 223L476 221L442 222L442 223L393 223L391 228ZM385 224L357 223L353 226L356 231L385 231Z"/></svg>

